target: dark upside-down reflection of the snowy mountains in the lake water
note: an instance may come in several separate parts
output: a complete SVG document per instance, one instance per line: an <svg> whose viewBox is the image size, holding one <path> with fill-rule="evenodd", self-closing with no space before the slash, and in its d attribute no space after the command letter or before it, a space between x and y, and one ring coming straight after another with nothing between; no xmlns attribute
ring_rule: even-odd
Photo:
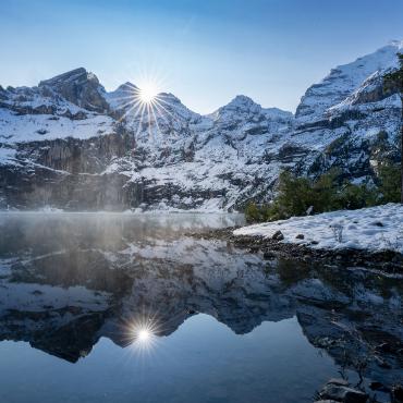
<svg viewBox="0 0 403 403"><path fill-rule="evenodd" d="M314 346L370 379L402 369L402 280L365 269L265 261L186 232L240 216L1 215L0 338L77 362L152 321L170 337L207 314L235 334L297 317ZM364 365L365 364L365 365Z"/></svg>

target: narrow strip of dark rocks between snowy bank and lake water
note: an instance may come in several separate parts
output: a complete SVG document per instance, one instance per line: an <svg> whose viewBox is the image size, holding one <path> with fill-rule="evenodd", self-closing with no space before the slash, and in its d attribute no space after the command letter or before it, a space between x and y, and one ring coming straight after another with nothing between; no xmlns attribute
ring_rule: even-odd
<svg viewBox="0 0 403 403"><path fill-rule="evenodd" d="M364 267L380 270L388 274L403 274L403 255L393 251L369 252L363 249L319 249L306 245L283 243L281 233L277 236L264 237L252 235L234 235L235 227L210 230L204 233L191 233L195 237L222 240L236 247L261 254L267 260L285 259L302 264L342 267Z"/></svg>

